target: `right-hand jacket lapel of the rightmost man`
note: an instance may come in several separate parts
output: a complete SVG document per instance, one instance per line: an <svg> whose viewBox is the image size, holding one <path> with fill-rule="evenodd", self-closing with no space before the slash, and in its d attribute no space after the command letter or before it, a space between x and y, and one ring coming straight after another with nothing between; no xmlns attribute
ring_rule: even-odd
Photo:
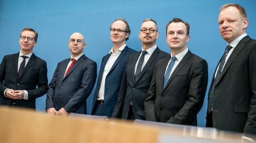
<svg viewBox="0 0 256 143"><path fill-rule="evenodd" d="M237 46L235 47L234 51L231 53L231 55L229 56L221 74L220 74L220 79L222 78L222 76L227 72L227 69L229 68L229 66L232 64L232 62L234 61L234 59L236 58L236 56L240 53L240 51L246 46L246 43L249 42L250 37L249 36L245 36L243 39L241 39L241 41L237 44ZM220 80L219 80L220 81Z"/></svg>

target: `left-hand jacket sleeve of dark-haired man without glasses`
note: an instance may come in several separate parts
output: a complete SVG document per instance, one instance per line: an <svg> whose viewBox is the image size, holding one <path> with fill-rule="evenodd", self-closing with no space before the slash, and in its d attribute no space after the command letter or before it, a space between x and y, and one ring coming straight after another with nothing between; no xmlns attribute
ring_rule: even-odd
<svg viewBox="0 0 256 143"><path fill-rule="evenodd" d="M155 100L156 100L156 72L157 66L154 68L154 73L152 76L151 84L148 90L147 98L144 101L144 109L145 109L145 117L147 121L155 121L157 122L156 115L155 115Z"/></svg>

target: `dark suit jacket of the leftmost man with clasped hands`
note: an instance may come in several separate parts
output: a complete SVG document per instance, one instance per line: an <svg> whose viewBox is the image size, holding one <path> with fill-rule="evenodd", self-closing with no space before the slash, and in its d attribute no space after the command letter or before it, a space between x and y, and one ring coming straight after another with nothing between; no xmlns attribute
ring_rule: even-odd
<svg viewBox="0 0 256 143"><path fill-rule="evenodd" d="M4 90L27 90L28 100L15 100L16 106L36 109L36 98L47 92L46 62L34 53L29 58L21 77L17 79L19 53L6 55L0 65L0 104L10 105L12 99L4 97ZM37 86L37 88L36 88Z"/></svg>

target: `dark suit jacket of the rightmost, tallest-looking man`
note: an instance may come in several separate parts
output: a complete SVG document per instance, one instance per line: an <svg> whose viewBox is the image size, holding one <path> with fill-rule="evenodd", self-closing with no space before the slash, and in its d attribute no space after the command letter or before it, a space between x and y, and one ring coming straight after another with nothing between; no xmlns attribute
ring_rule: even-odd
<svg viewBox="0 0 256 143"><path fill-rule="evenodd" d="M223 67L214 88L212 111L207 113L206 126L256 134L256 40L249 36L240 40Z"/></svg>

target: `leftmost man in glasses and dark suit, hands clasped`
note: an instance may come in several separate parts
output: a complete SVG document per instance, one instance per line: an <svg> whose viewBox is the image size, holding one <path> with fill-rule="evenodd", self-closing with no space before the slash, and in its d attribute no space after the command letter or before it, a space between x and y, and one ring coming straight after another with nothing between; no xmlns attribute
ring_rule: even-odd
<svg viewBox="0 0 256 143"><path fill-rule="evenodd" d="M37 37L32 28L23 29L19 40L20 52L3 57L0 65L0 105L36 109L36 98L46 94L46 62L33 53Z"/></svg>

